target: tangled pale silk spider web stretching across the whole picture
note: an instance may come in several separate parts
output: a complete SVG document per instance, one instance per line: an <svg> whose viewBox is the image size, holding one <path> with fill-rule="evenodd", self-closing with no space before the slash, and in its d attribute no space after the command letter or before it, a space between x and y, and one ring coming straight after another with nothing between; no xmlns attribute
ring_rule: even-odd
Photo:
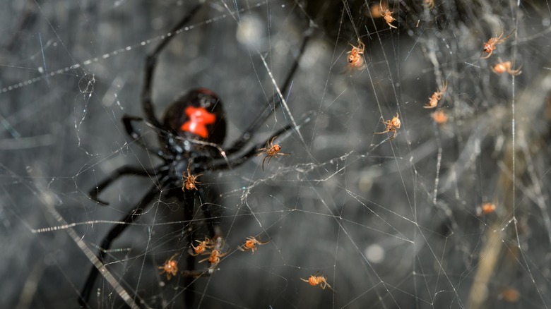
<svg viewBox="0 0 551 309"><path fill-rule="evenodd" d="M160 162L132 143L121 118L140 107L146 54L196 1L17 1L0 10L0 303L75 308L107 231L154 186L126 164ZM207 87L223 100L228 147L279 93L256 136L283 152L205 173L194 230L162 190L108 250L92 308L547 308L551 6L548 1L207 1L162 52L153 101ZM514 31L514 32L513 32ZM513 32L490 59L483 42ZM280 89L310 35L290 91ZM366 44L360 70L350 44ZM498 57L521 75L491 71ZM438 109L424 109L448 87ZM398 113L394 140L381 121ZM157 133L143 126L143 138ZM546 184L547 183L547 184ZM483 213L492 202L496 210ZM159 274L186 265L201 207L225 240L211 275L186 286ZM269 243L251 254L248 236ZM310 286L316 272L336 293ZM10 279L8 279L10 278Z"/></svg>

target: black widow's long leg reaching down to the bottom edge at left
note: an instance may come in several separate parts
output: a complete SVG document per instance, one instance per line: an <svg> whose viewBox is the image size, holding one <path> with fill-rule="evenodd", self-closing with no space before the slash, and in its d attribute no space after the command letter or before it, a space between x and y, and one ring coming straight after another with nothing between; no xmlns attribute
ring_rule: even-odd
<svg viewBox="0 0 551 309"><path fill-rule="evenodd" d="M163 181L164 183L164 181ZM143 196L141 201L138 203L138 207L135 207L134 210L129 212L129 214L126 214L124 218L122 218L121 222L122 224L117 224L112 227L112 229L109 231L107 236L103 239L100 248L99 255L97 257L100 259L101 262L104 262L105 255L107 255L107 250L111 247L111 243L132 223L134 222L134 216L138 214L139 212L143 212L143 210L146 210L148 207L152 205L150 203L153 198L155 198L156 195L159 195L159 188L158 186L152 186L146 195ZM142 208L139 206L143 205ZM92 289L94 287L95 280L97 279L97 274L100 272L98 271L97 267L93 267L90 269L90 273L88 274L88 278L86 279L86 283L84 284L84 287L81 291L81 296L78 298L78 303L85 307L88 304L88 300L90 299L90 293L92 292Z"/></svg>

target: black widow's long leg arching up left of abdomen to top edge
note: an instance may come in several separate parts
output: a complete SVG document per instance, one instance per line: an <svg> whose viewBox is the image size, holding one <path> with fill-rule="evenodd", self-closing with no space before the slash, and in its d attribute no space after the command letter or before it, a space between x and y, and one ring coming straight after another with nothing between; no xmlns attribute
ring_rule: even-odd
<svg viewBox="0 0 551 309"><path fill-rule="evenodd" d="M176 32L184 27L186 23L189 23L189 20L191 20L192 17L194 17L195 13L201 8L203 4L199 4L191 9L191 11L180 20L177 25L170 30L169 36L165 38L165 40L161 40L161 42L153 49L153 52L147 56L146 59L146 67L143 75L143 90L141 92L141 106L143 109L143 114L146 115L147 121L150 123L153 123L153 126L160 128L161 124L159 119L157 119L157 116L155 116L155 109L153 108L153 102L151 99L152 95L152 85L153 85L153 73L155 71L155 65L157 64L157 58L162 52L162 49L164 49L170 41L172 41L172 38L174 35L176 35Z"/></svg>

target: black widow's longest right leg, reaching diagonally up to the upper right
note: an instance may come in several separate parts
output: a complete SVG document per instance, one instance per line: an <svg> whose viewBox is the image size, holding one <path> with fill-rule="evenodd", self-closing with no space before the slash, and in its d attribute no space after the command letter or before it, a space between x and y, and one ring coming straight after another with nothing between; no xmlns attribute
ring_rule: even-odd
<svg viewBox="0 0 551 309"><path fill-rule="evenodd" d="M306 49L307 42L310 38L310 34L308 33L305 35L304 40L302 41L302 45L300 47L299 54L297 58L295 59L295 62L292 64L291 70L287 74L287 78L285 78L285 82L283 83L283 86L281 87L282 92L285 92L285 90L289 87L292 77L295 75L295 72L297 71L297 68L299 66L300 58L302 57L302 54L304 54L304 49ZM273 111L278 109L280 104L275 104L275 107L272 107L273 103L275 102L275 97L271 100L271 102L266 106L266 108L261 111L259 116L256 116L256 119L251 123L249 128L244 130L244 133L241 135L240 138L235 140L234 144L227 149L227 155L234 154L235 152L238 152L239 150L243 149L243 146L251 140L251 138L254 137L254 134L256 131L260 128L261 124L268 119L268 116L272 114ZM275 135L277 136L277 135ZM264 144L266 145L266 144Z"/></svg>

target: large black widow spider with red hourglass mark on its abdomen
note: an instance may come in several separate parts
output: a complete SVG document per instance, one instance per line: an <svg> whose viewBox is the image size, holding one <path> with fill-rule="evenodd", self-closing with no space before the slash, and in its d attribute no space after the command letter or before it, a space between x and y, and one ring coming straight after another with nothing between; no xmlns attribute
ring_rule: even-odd
<svg viewBox="0 0 551 309"><path fill-rule="evenodd" d="M182 202L182 205L184 205L184 220L186 222L191 222L194 214L196 194L199 195L199 198L204 200L204 193L200 185L198 186L198 190L184 190L182 193L182 178L185 175L184 173L189 171L192 175L196 176L203 173L203 171L232 169L253 157L269 140L291 129L290 125L285 126L285 128L275 132L262 143L253 145L249 150L243 151L246 149L245 146L247 143L254 137L256 130L280 105L274 104L275 100L278 99L278 97L274 97L270 104L261 111L259 116L257 116L244 133L242 133L241 137L238 138L231 147L224 150L222 145L225 139L226 123L223 104L214 92L205 88L191 90L186 95L179 97L179 99L172 102L167 108L162 117L162 122L157 119L151 99L151 93L153 73L155 71L155 64L157 63L158 56L160 52L165 49L167 44L170 43L174 34L189 23L189 20L194 17L201 6L202 4L195 6L184 18L182 18L182 20L180 20L180 22L170 31L170 35L167 35L165 40L162 40L146 58L143 90L141 92L141 106L143 114L146 115L145 119L128 115L122 118L126 133L132 140L138 143L138 145L143 147L146 151L159 157L162 160L162 164L151 169L141 166L122 166L115 170L111 176L98 183L93 190L90 190L89 195L91 199L102 205L107 205L107 202L98 198L98 195L122 176L145 176L156 179L156 183L145 195L143 195L143 198L141 198L138 205L134 207L134 210L131 210L122 218L121 222L123 223L112 227L107 236L105 236L100 243L98 257L103 264L102 267L105 267L107 250L110 248L114 239L122 234L126 227L134 221L136 215L144 212L153 204L152 201L160 194L160 190L164 198L176 198ZM305 38L300 47L297 59L295 59L290 68L285 78L285 82L283 83L283 87L280 88L283 91L289 87L292 76L295 74L295 71L297 71L300 56L302 56L304 52L308 38L309 33L305 33ZM161 147L150 147L150 145L146 145L146 143L141 140L141 134L134 128L132 124L134 121L145 121L148 126L158 132ZM206 219L211 218L208 208L201 207L201 210ZM207 220L207 227L209 234L211 234L210 236L214 237L215 229L211 220ZM193 231L193 229L191 229L191 231ZM189 243L193 243L193 241L194 235L193 233L189 233ZM188 265L188 267L194 265L194 256L188 255L186 257L186 265ZM99 271L97 266L90 270L90 274L88 274L88 278L81 291L81 296L78 298L80 305L88 306L90 293L98 274ZM194 291L189 289L193 280L194 279L191 277L184 277L184 286L188 287L185 290L184 301L188 307L193 305L194 302Z"/></svg>

